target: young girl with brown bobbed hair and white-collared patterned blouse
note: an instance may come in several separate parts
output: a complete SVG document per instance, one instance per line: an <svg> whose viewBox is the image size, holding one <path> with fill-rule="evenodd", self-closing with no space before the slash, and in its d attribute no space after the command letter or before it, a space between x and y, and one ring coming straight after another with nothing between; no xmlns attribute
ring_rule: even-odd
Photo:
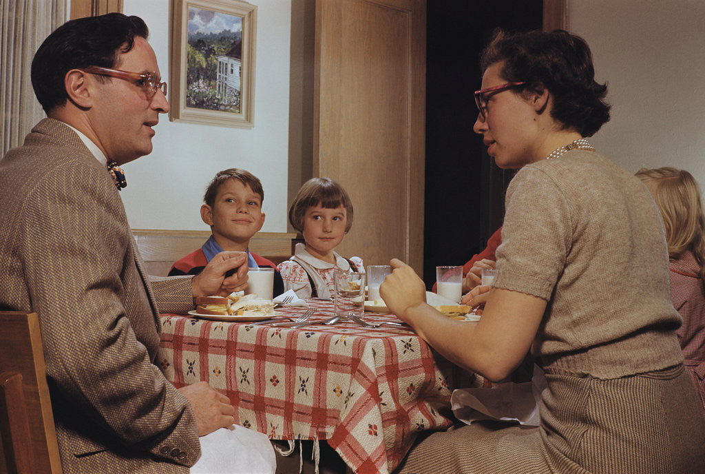
<svg viewBox="0 0 705 474"><path fill-rule="evenodd" d="M284 290L299 298L330 298L336 269L364 272L360 257L350 260L334 250L353 226L353 202L331 178L311 178L289 208L289 222L304 236L293 257L277 267Z"/></svg>

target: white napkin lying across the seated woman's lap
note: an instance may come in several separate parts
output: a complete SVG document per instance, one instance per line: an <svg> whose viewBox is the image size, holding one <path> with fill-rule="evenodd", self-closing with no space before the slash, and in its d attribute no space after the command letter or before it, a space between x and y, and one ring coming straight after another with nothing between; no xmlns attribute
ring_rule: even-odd
<svg viewBox="0 0 705 474"><path fill-rule="evenodd" d="M454 390L450 408L455 418L467 425L478 420L501 420L539 426L539 401L545 388L544 371L534 365L531 382L505 382L491 389Z"/></svg>

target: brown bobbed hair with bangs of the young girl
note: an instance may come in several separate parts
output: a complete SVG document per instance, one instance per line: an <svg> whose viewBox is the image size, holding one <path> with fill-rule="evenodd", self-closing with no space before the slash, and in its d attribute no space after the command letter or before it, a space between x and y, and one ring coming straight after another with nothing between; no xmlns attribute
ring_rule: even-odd
<svg viewBox="0 0 705 474"><path fill-rule="evenodd" d="M341 205L345 207L345 232L350 231L353 226L353 201L345 188L331 178L311 178L301 186L289 207L291 226L303 232L306 210L317 205L324 209L335 209Z"/></svg>

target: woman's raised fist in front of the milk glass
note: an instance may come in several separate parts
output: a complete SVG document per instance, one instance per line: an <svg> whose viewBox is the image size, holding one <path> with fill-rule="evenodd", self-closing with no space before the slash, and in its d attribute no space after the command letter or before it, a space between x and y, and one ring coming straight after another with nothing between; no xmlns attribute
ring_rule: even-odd
<svg viewBox="0 0 705 474"><path fill-rule="evenodd" d="M390 265L392 273L379 286L379 294L387 308L406 321L409 308L426 303L426 285L412 267L401 260L393 258Z"/></svg>

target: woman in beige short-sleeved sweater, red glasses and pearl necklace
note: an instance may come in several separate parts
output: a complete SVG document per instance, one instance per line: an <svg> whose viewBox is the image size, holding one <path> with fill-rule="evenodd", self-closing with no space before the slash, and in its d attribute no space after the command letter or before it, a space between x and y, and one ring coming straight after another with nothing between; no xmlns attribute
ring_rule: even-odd
<svg viewBox="0 0 705 474"><path fill-rule="evenodd" d="M501 380L532 351L546 373L539 427L435 432L401 473L692 473L705 418L683 367L658 209L585 137L609 119L587 44L496 33L475 92L481 133L510 183L496 278L479 322L443 317L393 260L381 296L446 358ZM442 454L439 454L442 453Z"/></svg>

